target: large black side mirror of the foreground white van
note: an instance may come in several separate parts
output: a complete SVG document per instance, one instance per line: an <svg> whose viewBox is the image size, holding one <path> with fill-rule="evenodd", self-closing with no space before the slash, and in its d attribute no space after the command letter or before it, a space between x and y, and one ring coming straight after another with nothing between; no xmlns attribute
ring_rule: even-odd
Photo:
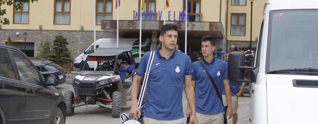
<svg viewBox="0 0 318 124"><path fill-rule="evenodd" d="M254 69L254 67L245 66L245 55L242 52L231 52L228 55L227 66L228 78L236 82L252 82L245 79L245 69Z"/></svg>

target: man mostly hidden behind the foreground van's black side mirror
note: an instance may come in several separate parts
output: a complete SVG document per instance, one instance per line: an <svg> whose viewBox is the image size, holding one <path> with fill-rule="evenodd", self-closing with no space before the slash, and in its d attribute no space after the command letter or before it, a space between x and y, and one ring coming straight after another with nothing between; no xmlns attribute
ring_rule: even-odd
<svg viewBox="0 0 318 124"><path fill-rule="evenodd" d="M226 61L228 61L228 55L232 52L232 50L229 50L226 52ZM234 81L229 81L230 89L231 89L231 95L232 95L232 106L233 106L233 124L237 124L237 110L239 108L239 97L242 96L243 89L245 86L245 82L242 83L241 90L240 90L240 82L234 82ZM225 96L225 92L223 90L223 104L224 106L227 105L227 98Z"/></svg>

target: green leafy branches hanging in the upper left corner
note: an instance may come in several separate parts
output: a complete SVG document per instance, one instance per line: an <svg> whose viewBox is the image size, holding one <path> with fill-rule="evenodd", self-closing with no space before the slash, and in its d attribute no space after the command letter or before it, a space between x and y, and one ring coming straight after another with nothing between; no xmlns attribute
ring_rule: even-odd
<svg viewBox="0 0 318 124"><path fill-rule="evenodd" d="M30 1L33 3L34 1L37 0L0 0L0 24L2 25L9 25L10 21L8 18L3 18L4 15L6 15L6 9L1 9L2 5L8 5L11 6L13 4L13 1L18 2L18 5L14 5L14 9L16 9L16 11L18 11L19 9L21 9L21 2L28 2L30 3Z"/></svg>

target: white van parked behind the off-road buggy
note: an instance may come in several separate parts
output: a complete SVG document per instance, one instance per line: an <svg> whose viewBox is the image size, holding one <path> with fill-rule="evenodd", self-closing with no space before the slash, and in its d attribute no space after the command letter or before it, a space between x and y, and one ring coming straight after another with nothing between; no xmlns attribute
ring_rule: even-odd
<svg viewBox="0 0 318 124"><path fill-rule="evenodd" d="M120 47L132 47L132 44L136 42L138 39L135 38L125 38L125 39L119 39L119 46ZM96 49L99 47L103 48L115 48L117 47L117 39L116 38L102 38L96 40ZM74 60L74 67L79 68L80 70L83 69L84 61L86 60L86 57L88 54L94 53L94 43L88 47L84 53L77 56ZM85 65L84 70L94 69L95 62L94 61L88 61Z"/></svg>

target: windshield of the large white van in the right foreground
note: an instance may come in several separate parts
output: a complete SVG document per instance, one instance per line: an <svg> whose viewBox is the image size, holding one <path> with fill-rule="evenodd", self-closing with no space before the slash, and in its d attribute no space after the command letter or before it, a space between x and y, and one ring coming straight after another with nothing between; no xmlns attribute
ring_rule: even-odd
<svg viewBox="0 0 318 124"><path fill-rule="evenodd" d="M318 10L271 11L269 16L267 72L318 74Z"/></svg>

